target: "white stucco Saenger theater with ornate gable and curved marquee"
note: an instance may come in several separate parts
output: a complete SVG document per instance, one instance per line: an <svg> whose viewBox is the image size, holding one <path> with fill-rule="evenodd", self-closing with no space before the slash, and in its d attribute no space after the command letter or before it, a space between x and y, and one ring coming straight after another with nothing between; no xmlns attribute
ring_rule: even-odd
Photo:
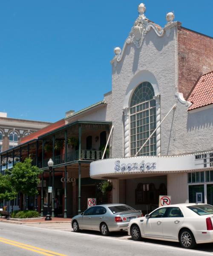
<svg viewBox="0 0 213 256"><path fill-rule="evenodd" d="M173 13L160 27L144 4L138 12L111 61L112 155L90 177L111 180L113 202L148 212L159 195L213 204L213 38Z"/></svg>

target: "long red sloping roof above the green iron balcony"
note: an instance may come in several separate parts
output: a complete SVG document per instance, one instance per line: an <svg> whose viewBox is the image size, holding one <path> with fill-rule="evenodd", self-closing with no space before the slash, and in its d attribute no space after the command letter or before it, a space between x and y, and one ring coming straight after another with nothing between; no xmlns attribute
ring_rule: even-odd
<svg viewBox="0 0 213 256"><path fill-rule="evenodd" d="M64 119L61 119L61 120L59 120L58 122L55 122L55 123L53 123L53 124L51 124L51 125L48 125L48 126L42 128L42 129L38 130L38 131L33 132L32 134L30 134L30 135L28 135L28 136L26 136L26 137L23 137L23 138L21 139L21 143L20 143L20 144L26 143L26 142L28 142L28 141L30 141L30 140L35 140L35 139L37 139L39 136L41 136L41 135L43 135L43 134L46 134L46 133L48 133L48 132L50 132L50 131L53 131L53 130L55 130L55 129L57 129L57 128L60 128L60 127L62 127L63 125L65 125L65 120L64 120Z"/></svg>

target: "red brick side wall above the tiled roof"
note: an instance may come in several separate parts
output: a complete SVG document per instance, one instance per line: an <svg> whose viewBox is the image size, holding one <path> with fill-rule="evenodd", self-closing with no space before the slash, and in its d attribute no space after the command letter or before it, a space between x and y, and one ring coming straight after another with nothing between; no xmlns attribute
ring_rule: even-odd
<svg viewBox="0 0 213 256"><path fill-rule="evenodd" d="M200 75L213 70L213 38L178 24L178 91L186 99Z"/></svg>

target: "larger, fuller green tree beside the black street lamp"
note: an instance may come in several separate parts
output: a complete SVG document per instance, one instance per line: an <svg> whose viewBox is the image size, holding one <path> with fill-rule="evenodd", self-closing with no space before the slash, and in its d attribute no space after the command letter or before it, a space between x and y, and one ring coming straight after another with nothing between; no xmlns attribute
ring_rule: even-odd
<svg viewBox="0 0 213 256"><path fill-rule="evenodd" d="M40 182L38 175L41 172L37 166L32 166L30 157L27 157L23 163L16 163L11 172L14 190L27 195L36 195L37 185Z"/></svg>

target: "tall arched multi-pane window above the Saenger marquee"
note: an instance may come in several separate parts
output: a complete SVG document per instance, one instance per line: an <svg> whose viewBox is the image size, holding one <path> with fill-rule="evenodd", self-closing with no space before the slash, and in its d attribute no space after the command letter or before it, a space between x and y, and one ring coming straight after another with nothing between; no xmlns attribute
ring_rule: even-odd
<svg viewBox="0 0 213 256"><path fill-rule="evenodd" d="M156 128L156 108L153 86L139 84L130 101L130 154L134 156ZM156 134L147 141L138 155L156 155Z"/></svg>

